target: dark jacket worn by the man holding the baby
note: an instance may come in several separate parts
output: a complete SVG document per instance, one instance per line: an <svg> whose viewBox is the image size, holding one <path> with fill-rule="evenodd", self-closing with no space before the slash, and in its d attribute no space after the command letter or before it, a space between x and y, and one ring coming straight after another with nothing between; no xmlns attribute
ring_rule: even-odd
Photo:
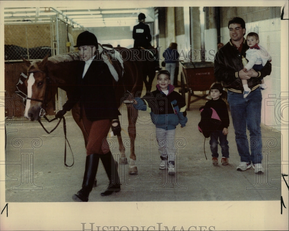
<svg viewBox="0 0 289 231"><path fill-rule="evenodd" d="M214 74L218 81L222 81L225 88L231 91L242 93L244 91L242 81L239 78L239 71L244 68L242 56L246 57L246 51L249 49L247 41L244 38L241 53L237 47L230 41L220 48L216 53L214 62ZM271 63L267 62L261 71L258 71L258 77L251 77L248 80L248 86L251 90L259 87L261 79L271 73Z"/></svg>

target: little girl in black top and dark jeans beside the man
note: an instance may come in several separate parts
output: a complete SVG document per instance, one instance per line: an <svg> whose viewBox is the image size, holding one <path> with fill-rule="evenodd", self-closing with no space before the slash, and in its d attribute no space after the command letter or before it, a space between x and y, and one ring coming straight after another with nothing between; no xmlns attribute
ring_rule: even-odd
<svg viewBox="0 0 289 231"><path fill-rule="evenodd" d="M229 158L229 146L227 141L228 127L230 124L229 113L227 104L224 100L227 100L227 92L223 90L221 83L213 83L210 87L211 100L205 104L205 108L213 108L219 118L221 124L215 131L210 132L210 148L212 151L212 162L213 165L218 164L218 139L220 141L222 151L222 165L228 165Z"/></svg>

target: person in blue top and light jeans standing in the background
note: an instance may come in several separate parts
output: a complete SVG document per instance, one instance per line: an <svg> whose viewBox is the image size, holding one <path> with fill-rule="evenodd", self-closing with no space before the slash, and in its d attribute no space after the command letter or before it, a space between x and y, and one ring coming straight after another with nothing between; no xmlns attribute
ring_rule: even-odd
<svg viewBox="0 0 289 231"><path fill-rule="evenodd" d="M171 83L174 83L175 70L179 62L179 52L177 43L171 42L170 46L164 50L163 57L166 63L166 70L171 74Z"/></svg>

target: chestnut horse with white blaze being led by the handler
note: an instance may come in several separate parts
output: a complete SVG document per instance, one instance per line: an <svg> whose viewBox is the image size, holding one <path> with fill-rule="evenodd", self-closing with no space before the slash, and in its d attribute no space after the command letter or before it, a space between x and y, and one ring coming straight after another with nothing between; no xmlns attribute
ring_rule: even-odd
<svg viewBox="0 0 289 231"><path fill-rule="evenodd" d="M132 97L135 97L136 93L142 91L143 80L140 62L131 60L131 51L123 47L117 47L114 48L114 50L118 51L123 60L123 75L119 76L117 82L114 82L118 106L121 106L125 92L128 91L131 93ZM72 96L73 88L77 80L77 64L81 62L81 60L79 54L73 52L49 58L47 56L44 60L38 62L29 62L27 60L24 60L24 62L28 66L27 80L25 81L27 86L27 102L24 116L30 121L36 121L45 113L45 110L43 109L45 109L47 102L51 101L52 97L55 96L57 87L65 90L68 98ZM138 111L130 104L127 104L126 106L129 122L128 134L130 138L131 160L129 174L136 174L138 173L138 169L134 162L136 160L134 141L136 138L135 125ZM71 112L73 119L83 133L86 145L88 134L85 132L82 120L80 119L79 104L76 104ZM120 163L124 164L127 162L127 158L125 157L125 147L123 146L121 136L118 137L118 143L121 152Z"/></svg>

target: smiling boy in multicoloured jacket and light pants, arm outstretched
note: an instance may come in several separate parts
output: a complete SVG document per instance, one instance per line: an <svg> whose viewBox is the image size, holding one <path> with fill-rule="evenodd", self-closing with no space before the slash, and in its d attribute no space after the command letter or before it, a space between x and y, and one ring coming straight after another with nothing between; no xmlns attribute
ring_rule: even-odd
<svg viewBox="0 0 289 231"><path fill-rule="evenodd" d="M157 89L142 98L135 98L133 106L137 110L148 111L156 126L156 138L160 151L160 169L167 169L168 174L175 174L175 129L178 124L185 127L185 99L171 85L170 73L162 70L158 73Z"/></svg>

